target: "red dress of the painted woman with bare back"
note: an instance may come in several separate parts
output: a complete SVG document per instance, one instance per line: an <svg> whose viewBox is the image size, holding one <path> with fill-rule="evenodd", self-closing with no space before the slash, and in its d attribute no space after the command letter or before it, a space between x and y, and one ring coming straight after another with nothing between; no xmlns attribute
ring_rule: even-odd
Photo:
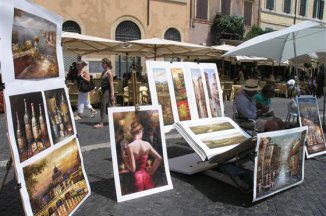
<svg viewBox="0 0 326 216"><path fill-rule="evenodd" d="M136 172L134 173L135 192L154 188L152 177L146 170L148 155L136 158Z"/></svg>

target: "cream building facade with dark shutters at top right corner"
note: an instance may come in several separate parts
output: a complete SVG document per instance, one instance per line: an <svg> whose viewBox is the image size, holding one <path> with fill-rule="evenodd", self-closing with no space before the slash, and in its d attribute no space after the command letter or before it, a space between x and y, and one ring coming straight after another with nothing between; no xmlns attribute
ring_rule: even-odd
<svg viewBox="0 0 326 216"><path fill-rule="evenodd" d="M325 0L261 0L260 27L279 30L303 20L326 24Z"/></svg>

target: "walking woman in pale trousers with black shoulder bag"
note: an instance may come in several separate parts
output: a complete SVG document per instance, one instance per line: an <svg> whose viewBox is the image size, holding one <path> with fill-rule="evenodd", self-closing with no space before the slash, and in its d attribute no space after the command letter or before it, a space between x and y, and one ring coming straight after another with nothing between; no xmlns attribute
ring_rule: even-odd
<svg viewBox="0 0 326 216"><path fill-rule="evenodd" d="M91 115L90 117L95 117L97 112L92 107L92 105L88 101L88 92L82 92L80 91L80 85L81 82L84 80L86 82L90 82L91 77L88 73L88 71L85 69L85 66L87 66L87 63L84 61L79 61L77 63L77 69L78 69L78 77L77 77L77 85L78 85L78 111L75 116L75 120L81 119L81 114L84 112L84 107L86 106L90 111Z"/></svg>

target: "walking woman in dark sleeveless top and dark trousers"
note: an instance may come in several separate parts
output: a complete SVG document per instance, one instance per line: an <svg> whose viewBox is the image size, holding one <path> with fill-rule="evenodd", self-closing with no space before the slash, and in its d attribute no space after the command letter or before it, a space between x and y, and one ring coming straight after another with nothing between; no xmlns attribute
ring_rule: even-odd
<svg viewBox="0 0 326 216"><path fill-rule="evenodd" d="M113 87L113 75L112 75L112 63L110 59L103 58L102 59L102 67L103 72L101 74L101 83L100 86L95 88L93 95L98 91L101 90L101 112L100 112L100 122L94 125L94 128L102 128L104 116L106 113L107 106L112 106L115 102L114 97L114 87Z"/></svg>

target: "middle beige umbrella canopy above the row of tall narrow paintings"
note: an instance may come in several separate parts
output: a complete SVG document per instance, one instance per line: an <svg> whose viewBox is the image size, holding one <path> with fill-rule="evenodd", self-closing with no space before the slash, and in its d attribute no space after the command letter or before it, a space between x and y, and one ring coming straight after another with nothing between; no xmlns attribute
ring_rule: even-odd
<svg viewBox="0 0 326 216"><path fill-rule="evenodd" d="M126 42L124 47L116 47L115 51L128 53L143 53L150 58L159 56L178 56L178 54L206 49L206 46L166 40L162 38L148 38Z"/></svg>

